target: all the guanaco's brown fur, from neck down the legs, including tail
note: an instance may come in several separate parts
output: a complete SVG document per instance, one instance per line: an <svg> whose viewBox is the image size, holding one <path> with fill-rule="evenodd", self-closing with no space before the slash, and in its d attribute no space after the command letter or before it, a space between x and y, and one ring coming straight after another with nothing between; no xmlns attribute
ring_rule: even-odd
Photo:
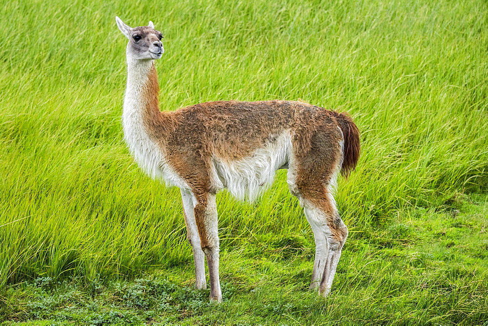
<svg viewBox="0 0 488 326"><path fill-rule="evenodd" d="M294 156L290 168L294 169L296 189L290 190L323 212L332 236L330 248L337 248L331 250L339 250L340 256L347 228L335 208L329 186L339 168L347 177L359 159L359 131L350 116L300 101L280 100L215 101L175 112L160 112L154 65L143 92L145 128L197 200L195 223L209 264L212 299L220 300L220 288L217 289L219 241L208 224L217 218L212 215L214 208L208 204L209 196L217 192L209 175L212 156L227 162L243 159L275 141L276 136L285 131L291 134ZM341 141L344 141L344 149ZM330 260L327 264L330 269L337 262ZM322 279L322 293L327 291L327 277Z"/></svg>

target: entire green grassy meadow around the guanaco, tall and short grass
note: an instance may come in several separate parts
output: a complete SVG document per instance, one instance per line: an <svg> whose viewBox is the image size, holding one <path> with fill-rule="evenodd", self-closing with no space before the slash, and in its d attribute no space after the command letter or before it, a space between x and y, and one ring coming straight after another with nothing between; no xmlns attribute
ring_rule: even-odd
<svg viewBox="0 0 488 326"><path fill-rule="evenodd" d="M488 4L4 1L0 322L488 325ZM347 111L362 156L331 295L285 171L217 196L224 303L192 289L179 190L123 142L126 38L152 20L161 110L301 99Z"/></svg>

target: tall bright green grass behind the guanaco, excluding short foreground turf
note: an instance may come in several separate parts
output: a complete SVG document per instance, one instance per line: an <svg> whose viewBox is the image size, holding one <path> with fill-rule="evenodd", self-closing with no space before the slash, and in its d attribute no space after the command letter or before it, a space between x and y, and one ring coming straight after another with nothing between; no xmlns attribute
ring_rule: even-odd
<svg viewBox="0 0 488 326"><path fill-rule="evenodd" d="M130 276L191 259L181 199L122 142L125 45L154 21L162 110L301 98L348 111L363 155L352 231L488 185L484 1L20 1L0 19L0 286ZM309 230L285 174L256 204L218 196L224 248Z"/></svg>

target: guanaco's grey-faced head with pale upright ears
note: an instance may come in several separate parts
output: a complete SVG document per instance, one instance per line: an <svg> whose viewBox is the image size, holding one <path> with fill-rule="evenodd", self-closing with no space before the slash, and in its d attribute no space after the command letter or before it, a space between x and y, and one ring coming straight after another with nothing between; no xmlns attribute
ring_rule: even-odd
<svg viewBox="0 0 488 326"><path fill-rule="evenodd" d="M154 24L149 21L148 26L129 27L119 17L115 17L117 26L122 34L129 39L127 44L127 56L134 59L159 59L164 53L161 32L154 29Z"/></svg>

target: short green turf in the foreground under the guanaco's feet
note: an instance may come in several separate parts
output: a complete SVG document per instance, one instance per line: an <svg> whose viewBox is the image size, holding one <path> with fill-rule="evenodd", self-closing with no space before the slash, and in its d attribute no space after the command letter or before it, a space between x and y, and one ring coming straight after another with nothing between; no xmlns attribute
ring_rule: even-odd
<svg viewBox="0 0 488 326"><path fill-rule="evenodd" d="M486 325L487 214L488 196L462 196L351 235L328 299L307 291L313 246L303 230L259 234L224 249L222 305L208 302L209 290L193 289L188 261L129 282L40 277L7 290L3 311L36 325L39 318L91 325Z"/></svg>

